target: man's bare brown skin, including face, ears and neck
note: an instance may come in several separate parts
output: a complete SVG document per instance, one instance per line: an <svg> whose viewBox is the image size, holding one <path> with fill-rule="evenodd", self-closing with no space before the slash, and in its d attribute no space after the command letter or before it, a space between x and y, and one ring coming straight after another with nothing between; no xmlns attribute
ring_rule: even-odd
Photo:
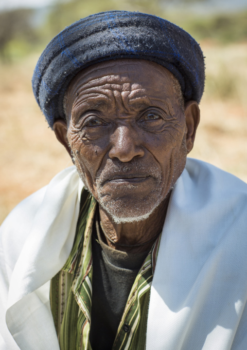
<svg viewBox="0 0 247 350"><path fill-rule="evenodd" d="M56 120L57 139L74 156L77 171L99 201L107 244L145 243L162 231L171 189L194 145L200 112L184 108L172 74L157 63L118 59L79 72L67 91L67 123ZM154 209L155 208L155 209ZM116 223L113 216L141 221Z"/></svg>

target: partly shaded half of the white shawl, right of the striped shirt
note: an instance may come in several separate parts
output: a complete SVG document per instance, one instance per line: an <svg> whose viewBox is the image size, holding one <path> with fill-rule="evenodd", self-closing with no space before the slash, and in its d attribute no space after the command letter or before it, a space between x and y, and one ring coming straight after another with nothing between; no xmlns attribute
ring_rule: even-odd
<svg viewBox="0 0 247 350"><path fill-rule="evenodd" d="M246 350L246 301L247 185L188 159L161 236L146 350Z"/></svg>

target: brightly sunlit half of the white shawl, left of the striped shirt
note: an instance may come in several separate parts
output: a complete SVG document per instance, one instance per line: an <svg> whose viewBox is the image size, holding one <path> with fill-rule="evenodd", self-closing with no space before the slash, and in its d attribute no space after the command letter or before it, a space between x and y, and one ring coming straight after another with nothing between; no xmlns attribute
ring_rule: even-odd
<svg viewBox="0 0 247 350"><path fill-rule="evenodd" d="M9 281L6 323L20 349L59 349L50 309L50 280L71 252L81 190L75 168L65 169L21 202L1 227L5 260L1 268ZM0 350L18 349L6 335L9 345Z"/></svg>

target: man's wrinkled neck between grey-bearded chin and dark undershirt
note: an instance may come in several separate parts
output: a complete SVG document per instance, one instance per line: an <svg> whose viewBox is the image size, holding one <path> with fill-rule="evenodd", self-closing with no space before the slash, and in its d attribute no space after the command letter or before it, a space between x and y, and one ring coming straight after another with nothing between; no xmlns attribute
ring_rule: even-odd
<svg viewBox="0 0 247 350"><path fill-rule="evenodd" d="M100 221L109 247L127 253L141 253L149 250L157 235L161 233L171 193L145 220L117 224L99 206ZM118 245L119 243L119 245Z"/></svg>

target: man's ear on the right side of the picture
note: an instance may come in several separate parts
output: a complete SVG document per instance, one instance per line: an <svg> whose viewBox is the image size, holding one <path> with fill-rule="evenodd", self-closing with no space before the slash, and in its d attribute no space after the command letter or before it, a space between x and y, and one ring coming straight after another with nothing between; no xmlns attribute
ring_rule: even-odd
<svg viewBox="0 0 247 350"><path fill-rule="evenodd" d="M187 126L186 144L188 153L190 153L194 146L195 132L200 121L200 109L196 101L188 101L184 107Z"/></svg>

